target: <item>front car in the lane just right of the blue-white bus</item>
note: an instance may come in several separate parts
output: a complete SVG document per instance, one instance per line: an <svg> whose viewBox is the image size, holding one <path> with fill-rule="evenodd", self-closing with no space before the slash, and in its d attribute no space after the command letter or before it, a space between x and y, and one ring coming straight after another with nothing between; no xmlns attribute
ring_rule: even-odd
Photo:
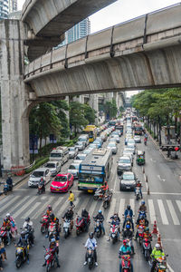
<svg viewBox="0 0 181 272"><path fill-rule="evenodd" d="M120 190L124 190L124 189L135 190L136 180L137 180L136 176L133 172L131 171L123 172L122 176L120 177L119 189Z"/></svg>

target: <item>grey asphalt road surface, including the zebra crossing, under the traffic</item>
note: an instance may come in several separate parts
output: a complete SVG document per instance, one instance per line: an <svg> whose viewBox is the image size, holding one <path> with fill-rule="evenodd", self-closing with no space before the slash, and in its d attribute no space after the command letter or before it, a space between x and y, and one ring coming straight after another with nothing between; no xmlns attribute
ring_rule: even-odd
<svg viewBox="0 0 181 272"><path fill-rule="evenodd" d="M106 143L107 144L107 143ZM106 145L105 144L105 145ZM169 255L167 262L172 268L170 271L180 272L181 268L179 257L179 245L181 240L180 224L181 224L181 180L179 180L179 172L175 162L167 162L161 154L157 151L151 140L148 140L148 146L137 144L138 150L146 151L146 174L148 175L148 184L150 195L147 194L147 187L142 173L142 167L137 166L134 162L133 170L136 172L138 179L143 184L143 195L148 206L148 220L149 227L153 228L153 222L157 219L157 226L159 228L163 246ZM133 192L119 191L119 178L117 176L117 160L124 149L124 138L121 137L119 143L119 151L117 155L113 155L113 166L110 175L110 188L113 189L113 199L110 209L103 211L105 217L106 236L98 239L98 263L99 267L95 267L96 271L119 271L118 252L121 242L112 245L107 241L109 235L109 219L114 211L119 212L119 216L123 213L128 204L131 205L134 213L138 213L138 206L140 201L135 200ZM62 171L68 169L72 160L69 160ZM35 229L35 246L30 250L30 264L24 264L20 268L21 271L42 272L45 271L43 264L43 245L48 246L48 240L40 232L40 219L43 212L46 210L48 204L52 205L53 212L61 219L62 214L67 209L68 194L52 194L49 186L46 187L46 194L38 196L37 189L29 189L27 180L24 180L18 185L14 192L6 197L0 198L0 219L1 222L7 212L10 212L14 217L18 229L22 227L24 219L30 216L33 220ZM101 208L101 201L93 200L91 194L80 192L77 190L77 180L74 181L72 190L76 196L77 213L81 213L82 208L90 211L90 215L96 215ZM121 220L122 221L122 220ZM122 223L122 222L121 222ZM93 221L91 220L90 230L93 230ZM61 232L60 239L60 263L61 268L55 271L87 271L88 267L83 267L85 248L83 243L86 242L88 233L81 234L76 237L75 229L71 233L71 237L64 239ZM157 241L154 238L153 244ZM149 271L148 263L142 256L138 244L134 243L136 255L133 258L134 271ZM14 264L14 244L6 247L8 261L5 262L5 271L16 271Z"/></svg>

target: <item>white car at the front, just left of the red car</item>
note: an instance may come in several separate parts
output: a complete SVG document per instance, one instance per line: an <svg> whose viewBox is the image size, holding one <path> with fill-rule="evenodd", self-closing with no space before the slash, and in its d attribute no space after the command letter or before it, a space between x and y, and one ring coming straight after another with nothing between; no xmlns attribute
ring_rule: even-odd
<svg viewBox="0 0 181 272"><path fill-rule="evenodd" d="M44 184L51 181L51 171L48 168L38 168L33 171L28 180L29 187L38 187L38 183L43 178Z"/></svg>

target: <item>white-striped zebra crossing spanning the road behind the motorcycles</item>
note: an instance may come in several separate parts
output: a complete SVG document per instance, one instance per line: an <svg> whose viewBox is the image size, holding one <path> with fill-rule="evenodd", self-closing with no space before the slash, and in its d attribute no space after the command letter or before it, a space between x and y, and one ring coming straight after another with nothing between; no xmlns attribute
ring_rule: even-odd
<svg viewBox="0 0 181 272"><path fill-rule="evenodd" d="M14 219L38 219L46 210L47 205L52 205L54 214L61 218L65 210L69 207L69 201L66 198L54 196L15 196L5 202L0 201L0 218L4 218L7 212L10 212ZM95 216L99 209L102 209L101 201L95 201L87 196L79 196L74 201L75 212L81 214L81 209L86 208L90 212L90 216ZM133 213L137 217L138 206L140 202L135 199L112 198L110 208L103 211L105 222L109 222L110 216L116 211L121 218L127 205L131 206ZM169 224L181 225L181 200L180 199L147 199L148 220L150 224L154 224L155 220L167 226Z"/></svg>

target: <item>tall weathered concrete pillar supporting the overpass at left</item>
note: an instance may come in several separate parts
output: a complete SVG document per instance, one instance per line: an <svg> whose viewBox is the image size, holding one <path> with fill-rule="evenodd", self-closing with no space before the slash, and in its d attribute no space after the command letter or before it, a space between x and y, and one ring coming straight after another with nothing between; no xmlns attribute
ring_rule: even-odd
<svg viewBox="0 0 181 272"><path fill-rule="evenodd" d="M29 96L23 81L24 25L0 22L0 82L4 170L29 164Z"/></svg>

